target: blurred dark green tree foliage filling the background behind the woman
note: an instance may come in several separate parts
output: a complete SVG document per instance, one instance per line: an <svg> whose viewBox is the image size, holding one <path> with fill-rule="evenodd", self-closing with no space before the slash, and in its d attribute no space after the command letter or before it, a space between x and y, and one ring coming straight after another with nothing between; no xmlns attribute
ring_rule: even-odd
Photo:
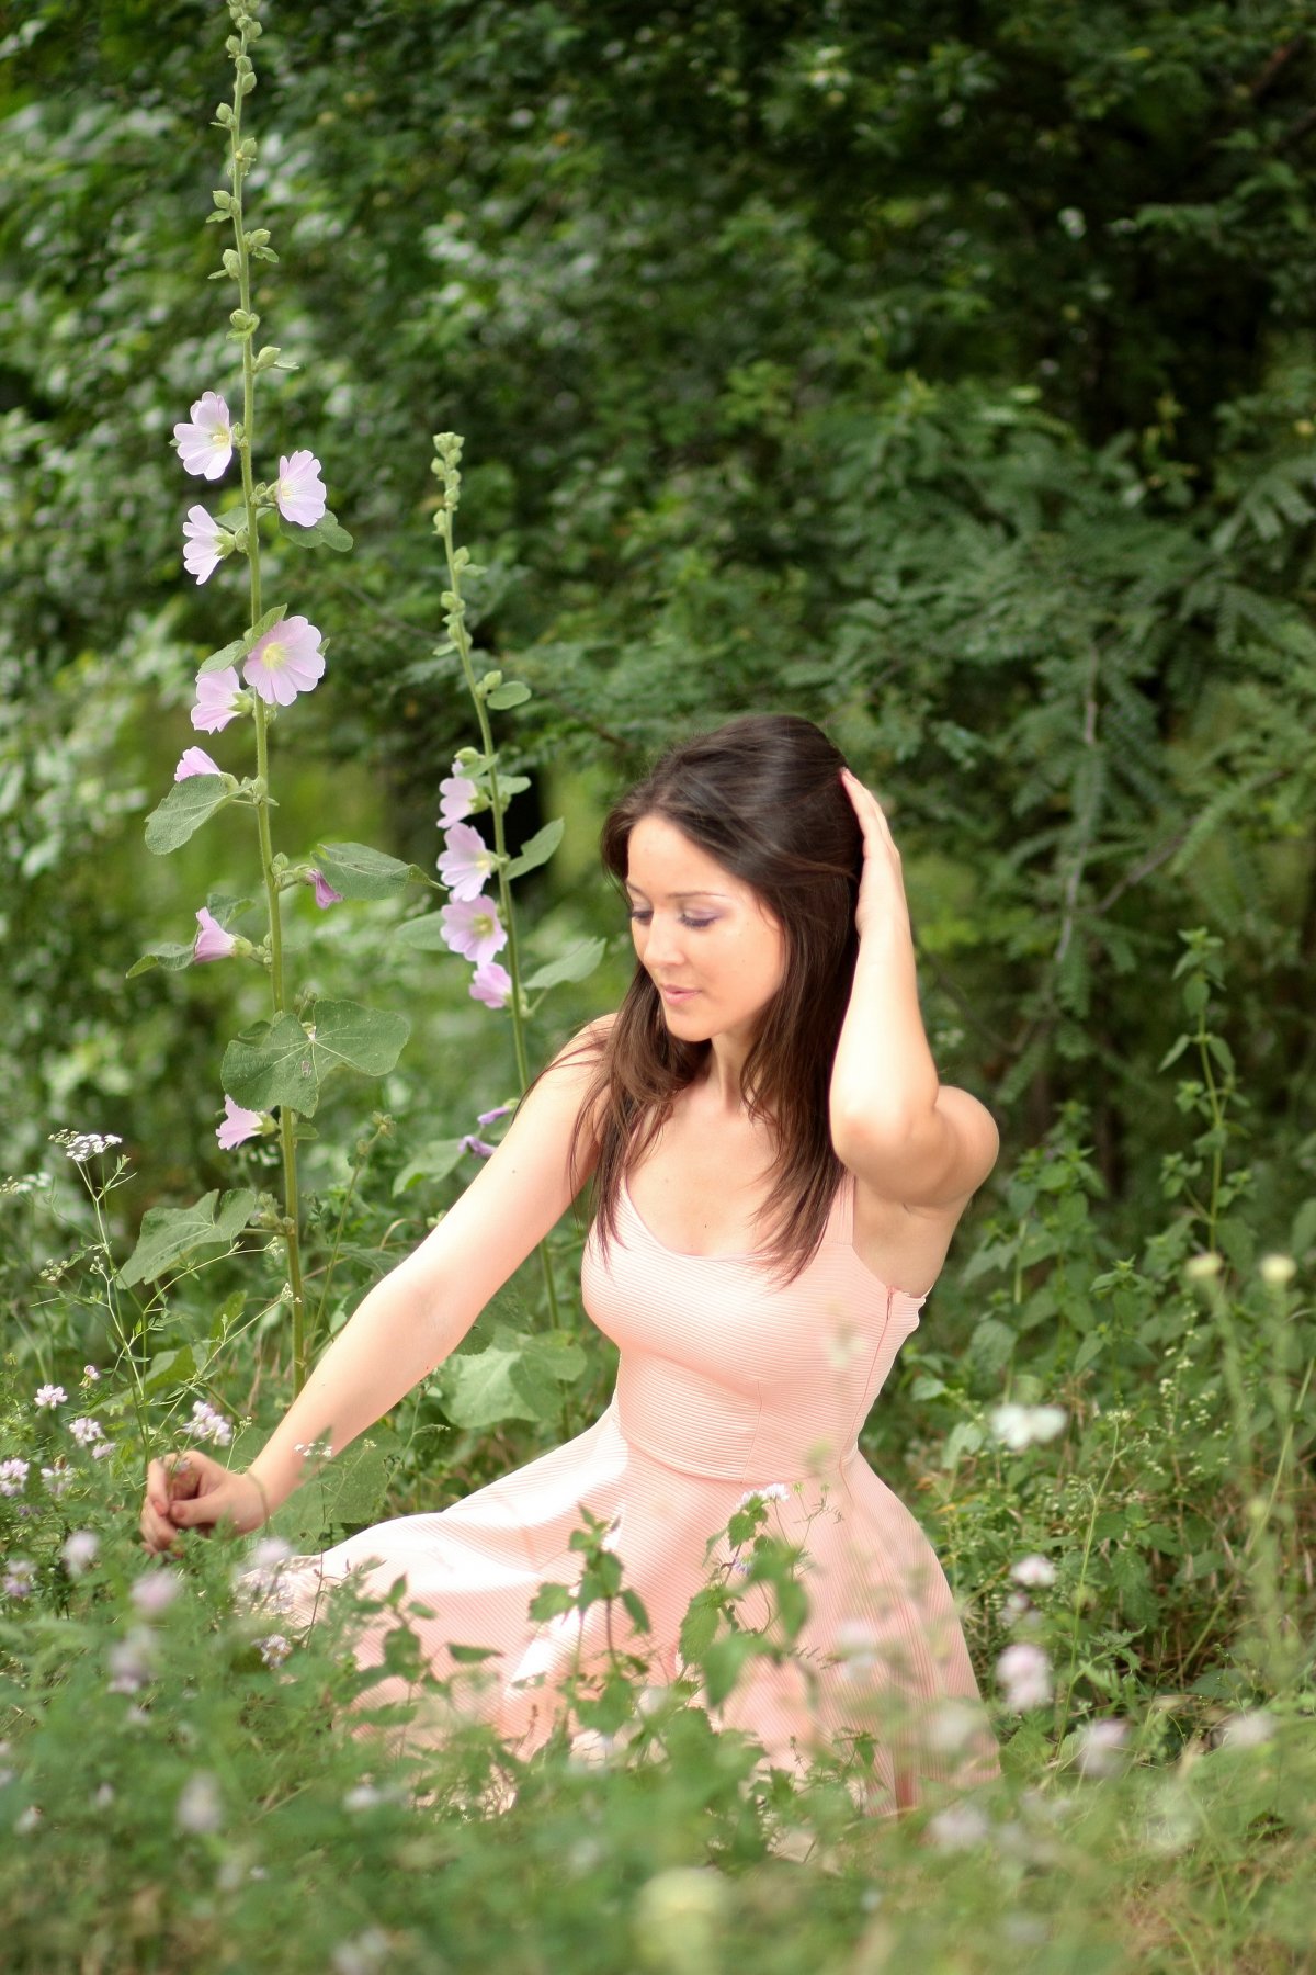
<svg viewBox="0 0 1316 1975"><path fill-rule="evenodd" d="M43 0L0 97L4 1149L126 1124L148 1189L217 1104L221 989L122 972L185 936L201 867L164 875L140 816L241 616L229 569L182 577L197 482L168 444L231 383L219 24ZM1176 928L1206 924L1265 1191L1300 1197L1304 10L353 0L282 10L260 71L260 306L304 363L266 440L320 452L359 545L314 569L333 644L288 847L347 806L434 855L466 715L428 658L428 434L458 429L481 636L537 687L531 764L590 770L584 841L669 735L811 713L892 804L945 1074L1010 1144L1079 1096L1105 1181L1144 1195Z"/></svg>

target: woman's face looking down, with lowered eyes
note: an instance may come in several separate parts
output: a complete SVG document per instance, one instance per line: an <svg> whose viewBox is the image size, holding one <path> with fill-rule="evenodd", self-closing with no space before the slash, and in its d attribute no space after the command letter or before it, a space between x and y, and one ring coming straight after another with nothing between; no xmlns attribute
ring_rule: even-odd
<svg viewBox="0 0 1316 1975"><path fill-rule="evenodd" d="M785 978L781 922L665 816L643 816L631 830L625 891L635 954L671 1033L748 1047Z"/></svg>

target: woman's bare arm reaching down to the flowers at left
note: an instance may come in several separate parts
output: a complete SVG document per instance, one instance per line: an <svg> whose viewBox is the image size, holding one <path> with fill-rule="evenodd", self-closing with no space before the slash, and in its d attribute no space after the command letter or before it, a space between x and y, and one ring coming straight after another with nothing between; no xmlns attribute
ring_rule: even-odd
<svg viewBox="0 0 1316 1975"><path fill-rule="evenodd" d="M300 1448L328 1442L339 1454L442 1365L570 1207L568 1149L590 1068L592 1051L568 1045L545 1070L489 1163L361 1300L245 1473L203 1456L185 1456L182 1473L178 1462L152 1462L142 1511L150 1548L168 1548L180 1527L219 1519L255 1529L302 1481Z"/></svg>

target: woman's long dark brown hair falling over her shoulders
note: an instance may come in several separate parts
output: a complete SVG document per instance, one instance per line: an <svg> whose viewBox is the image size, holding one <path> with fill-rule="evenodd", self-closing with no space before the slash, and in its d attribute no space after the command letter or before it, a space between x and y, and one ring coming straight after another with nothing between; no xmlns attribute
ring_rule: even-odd
<svg viewBox="0 0 1316 1975"><path fill-rule="evenodd" d="M764 1258L787 1282L817 1252L844 1171L831 1142L829 1084L858 954L862 833L841 784L842 766L844 756L813 721L791 713L730 721L669 749L616 804L602 835L604 867L621 889L631 830L645 816L665 818L750 885L781 926L785 976L762 1013L740 1094L775 1136L773 1185L760 1221ZM637 966L616 1023L596 1047L570 1159L580 1173L588 1130L598 1140L592 1205L606 1246L616 1236L625 1173L710 1045L671 1035L659 991Z"/></svg>

